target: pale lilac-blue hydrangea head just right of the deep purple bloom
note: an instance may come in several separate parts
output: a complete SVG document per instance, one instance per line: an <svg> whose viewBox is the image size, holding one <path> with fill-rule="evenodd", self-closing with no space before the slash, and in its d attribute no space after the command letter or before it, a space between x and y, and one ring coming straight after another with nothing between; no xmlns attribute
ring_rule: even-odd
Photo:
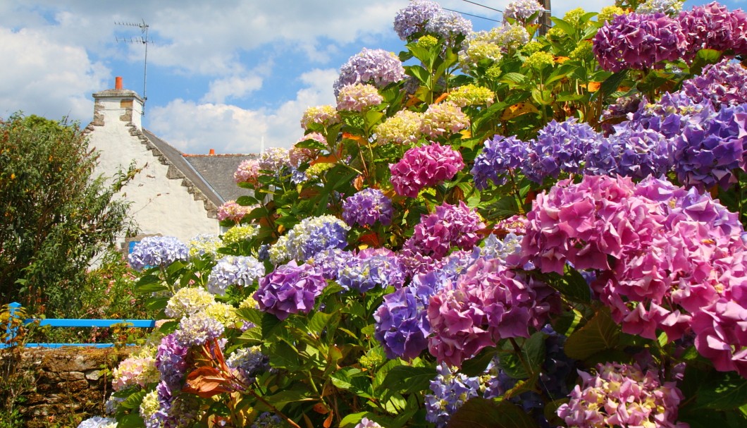
<svg viewBox="0 0 747 428"><path fill-rule="evenodd" d="M338 267L337 281L346 290L365 293L376 285L400 288L405 282L405 273L399 258L391 250L371 255L361 252Z"/></svg>

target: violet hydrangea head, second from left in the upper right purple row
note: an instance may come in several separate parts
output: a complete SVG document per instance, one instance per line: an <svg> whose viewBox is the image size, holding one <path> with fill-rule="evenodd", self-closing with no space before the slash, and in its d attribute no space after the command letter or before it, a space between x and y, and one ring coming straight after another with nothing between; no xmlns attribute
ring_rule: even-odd
<svg viewBox="0 0 747 428"><path fill-rule="evenodd" d="M586 153L600 135L585 122L575 119L552 122L539 131L529 143L529 155L522 168L533 182L547 177L557 179L560 173L579 173Z"/></svg>

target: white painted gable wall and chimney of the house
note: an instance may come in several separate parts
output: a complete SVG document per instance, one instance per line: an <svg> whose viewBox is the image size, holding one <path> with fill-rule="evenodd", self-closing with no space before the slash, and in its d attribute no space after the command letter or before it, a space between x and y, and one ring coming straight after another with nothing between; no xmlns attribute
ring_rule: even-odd
<svg viewBox="0 0 747 428"><path fill-rule="evenodd" d="M142 104L134 97L125 101L129 99L134 99L132 119L139 128ZM175 236L185 243L200 233L219 233L218 220L208 217L203 202L193 199L182 186L182 179L167 179L169 166L161 164L138 137L130 134L127 122L120 120L125 114L121 101L109 96L97 99L104 106L98 110L104 115L104 125L93 126L88 134L89 146L99 151L97 174L113 177L117 170L126 172L132 161L142 168L121 192L131 202L129 214L140 226L140 233Z"/></svg>

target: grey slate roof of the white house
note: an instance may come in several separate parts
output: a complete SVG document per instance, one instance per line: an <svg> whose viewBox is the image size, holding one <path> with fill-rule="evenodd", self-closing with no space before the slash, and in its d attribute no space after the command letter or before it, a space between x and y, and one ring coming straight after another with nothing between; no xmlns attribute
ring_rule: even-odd
<svg viewBox="0 0 747 428"><path fill-rule="evenodd" d="M216 207L228 200L251 194L250 190L236 185L233 173L241 161L256 158L257 155L185 155L151 131L143 129L143 134Z"/></svg>

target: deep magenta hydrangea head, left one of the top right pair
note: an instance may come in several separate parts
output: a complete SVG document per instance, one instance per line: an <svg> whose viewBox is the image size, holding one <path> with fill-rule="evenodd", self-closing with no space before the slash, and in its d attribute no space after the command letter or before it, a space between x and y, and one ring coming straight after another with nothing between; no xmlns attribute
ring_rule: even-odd
<svg viewBox="0 0 747 428"><path fill-rule="evenodd" d="M628 13L605 22L594 37L594 54L601 67L647 69L660 61L675 61L687 48L680 23L663 13Z"/></svg>

